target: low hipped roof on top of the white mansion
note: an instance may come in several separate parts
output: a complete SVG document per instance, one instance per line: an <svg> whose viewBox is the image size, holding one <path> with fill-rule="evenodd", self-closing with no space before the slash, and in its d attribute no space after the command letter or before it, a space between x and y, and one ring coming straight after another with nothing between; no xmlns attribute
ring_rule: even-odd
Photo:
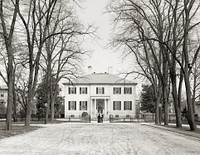
<svg viewBox="0 0 200 155"><path fill-rule="evenodd" d="M64 85L137 85L137 83L126 80L114 74L93 73L74 79Z"/></svg>

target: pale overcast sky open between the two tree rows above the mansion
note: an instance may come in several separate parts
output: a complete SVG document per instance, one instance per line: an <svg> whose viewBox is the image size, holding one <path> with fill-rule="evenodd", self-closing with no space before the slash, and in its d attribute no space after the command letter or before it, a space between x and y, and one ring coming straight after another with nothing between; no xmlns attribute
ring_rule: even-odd
<svg viewBox="0 0 200 155"><path fill-rule="evenodd" d="M130 60L124 61L121 52L114 49L106 48L111 40L112 20L106 13L106 6L109 0L85 0L81 3L83 9L77 9L79 19L86 24L93 24L97 27L96 35L99 39L88 38L84 42L84 48L91 51L91 56L85 60L84 70L92 66L93 72L103 73L108 71L108 67L112 67L113 73L127 71Z"/></svg>

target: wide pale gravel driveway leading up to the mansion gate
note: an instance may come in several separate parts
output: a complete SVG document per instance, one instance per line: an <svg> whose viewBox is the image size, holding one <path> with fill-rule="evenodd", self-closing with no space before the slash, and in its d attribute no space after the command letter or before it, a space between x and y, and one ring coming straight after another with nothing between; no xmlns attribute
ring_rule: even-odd
<svg viewBox="0 0 200 155"><path fill-rule="evenodd" d="M137 123L54 124L0 140L0 155L200 154L200 140Z"/></svg>

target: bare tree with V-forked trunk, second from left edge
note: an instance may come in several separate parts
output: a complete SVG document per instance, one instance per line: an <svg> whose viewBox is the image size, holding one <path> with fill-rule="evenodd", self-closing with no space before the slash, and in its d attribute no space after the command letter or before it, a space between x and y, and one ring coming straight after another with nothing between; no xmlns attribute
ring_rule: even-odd
<svg viewBox="0 0 200 155"><path fill-rule="evenodd" d="M50 37L47 36L47 28L51 22L57 0L31 0L25 3L26 4L19 9L18 14L25 28L26 42L29 53L28 102L26 106L25 125L30 126L31 107L38 81L40 57L44 43ZM53 36L56 34L51 35Z"/></svg>

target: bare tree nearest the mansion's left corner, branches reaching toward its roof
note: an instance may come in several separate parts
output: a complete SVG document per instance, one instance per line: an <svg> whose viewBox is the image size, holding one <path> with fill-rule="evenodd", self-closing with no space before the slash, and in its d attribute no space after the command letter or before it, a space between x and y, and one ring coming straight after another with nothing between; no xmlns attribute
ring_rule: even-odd
<svg viewBox="0 0 200 155"><path fill-rule="evenodd" d="M68 10L66 12L66 10ZM65 12L65 13L64 13ZM48 35L55 34L56 31L65 33L48 38L45 42L46 53L43 53L47 75L48 96L46 120L48 120L49 105L51 105L51 121L54 120L54 103L56 94L53 94L53 87L56 86L62 78L71 78L76 76L79 71L81 55L85 51L80 48L81 40L79 36L89 34L90 26L84 30L83 26L74 18L73 10L64 5L62 1L57 7L57 13L48 28ZM52 78L54 80L52 80Z"/></svg>

